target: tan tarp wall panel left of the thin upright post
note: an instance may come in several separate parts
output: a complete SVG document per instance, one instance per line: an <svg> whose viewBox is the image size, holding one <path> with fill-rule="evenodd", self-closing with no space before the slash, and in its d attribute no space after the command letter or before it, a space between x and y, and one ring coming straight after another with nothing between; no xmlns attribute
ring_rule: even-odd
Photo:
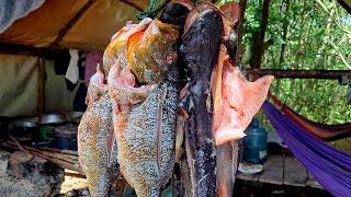
<svg viewBox="0 0 351 197"><path fill-rule="evenodd" d="M0 55L0 116L36 114L37 63L37 57Z"/></svg>

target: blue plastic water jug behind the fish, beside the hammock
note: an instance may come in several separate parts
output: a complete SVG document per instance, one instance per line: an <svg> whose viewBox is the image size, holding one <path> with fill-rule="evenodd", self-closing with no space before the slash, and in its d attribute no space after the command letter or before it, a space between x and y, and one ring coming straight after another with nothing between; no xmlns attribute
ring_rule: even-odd
<svg viewBox="0 0 351 197"><path fill-rule="evenodd" d="M244 160L250 163L261 163L267 161L267 130L260 127L260 121L253 118L246 130L244 138Z"/></svg>

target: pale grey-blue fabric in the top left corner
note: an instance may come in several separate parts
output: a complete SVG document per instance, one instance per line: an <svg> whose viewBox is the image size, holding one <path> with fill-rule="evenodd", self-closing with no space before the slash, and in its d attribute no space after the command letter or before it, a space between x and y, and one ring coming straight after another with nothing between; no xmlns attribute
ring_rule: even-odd
<svg viewBox="0 0 351 197"><path fill-rule="evenodd" d="M44 3L44 0L2 0L0 1L0 33L11 24Z"/></svg>

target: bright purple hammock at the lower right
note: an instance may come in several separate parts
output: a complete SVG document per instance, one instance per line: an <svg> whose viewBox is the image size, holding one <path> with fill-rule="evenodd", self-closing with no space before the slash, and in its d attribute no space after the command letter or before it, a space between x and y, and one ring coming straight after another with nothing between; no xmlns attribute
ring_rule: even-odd
<svg viewBox="0 0 351 197"><path fill-rule="evenodd" d="M351 154L306 132L269 102L263 112L278 135L308 172L335 196L351 194Z"/></svg>

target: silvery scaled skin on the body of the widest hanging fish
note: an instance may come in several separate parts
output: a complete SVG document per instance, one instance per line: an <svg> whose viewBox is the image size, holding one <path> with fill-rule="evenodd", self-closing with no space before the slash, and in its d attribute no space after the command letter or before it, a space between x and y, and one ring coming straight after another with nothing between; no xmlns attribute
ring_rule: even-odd
<svg viewBox="0 0 351 197"><path fill-rule="evenodd" d="M139 105L133 106L126 129L118 134L118 148L121 151L118 160L122 164L123 175L129 176L128 182L135 187L138 196L157 196L159 189L171 176L174 154L174 130L177 112L177 90L168 88L167 100L163 103L161 123L160 153L157 155L157 111L160 93L168 86L161 83L155 88L148 97ZM138 123L138 124L135 124ZM160 169L158 169L157 157L160 157ZM126 172L124 171L124 167ZM145 184L147 187L143 188ZM155 185L154 185L155 184ZM147 189L149 188L149 189ZM157 189L157 190L156 190ZM144 190L144 192L143 192Z"/></svg>

